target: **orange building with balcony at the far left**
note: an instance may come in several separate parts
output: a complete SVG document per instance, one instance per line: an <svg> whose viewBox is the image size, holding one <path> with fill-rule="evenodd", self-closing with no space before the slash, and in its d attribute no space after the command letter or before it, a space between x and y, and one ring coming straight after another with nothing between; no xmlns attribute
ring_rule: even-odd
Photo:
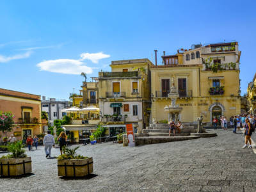
<svg viewBox="0 0 256 192"><path fill-rule="evenodd" d="M26 140L28 135L35 136L44 131L47 122L41 120L41 96L15 92L0 88L0 111L15 115L12 131L18 140ZM3 136L3 134L2 134Z"/></svg>

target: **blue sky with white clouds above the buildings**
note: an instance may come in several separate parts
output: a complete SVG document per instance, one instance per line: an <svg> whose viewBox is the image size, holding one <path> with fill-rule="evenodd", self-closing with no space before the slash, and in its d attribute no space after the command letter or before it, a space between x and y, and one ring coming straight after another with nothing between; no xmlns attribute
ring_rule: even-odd
<svg viewBox="0 0 256 192"><path fill-rule="evenodd" d="M256 72L256 1L0 1L0 88L68 99L85 72L192 44L241 51L241 94ZM154 63L154 57L153 57Z"/></svg>

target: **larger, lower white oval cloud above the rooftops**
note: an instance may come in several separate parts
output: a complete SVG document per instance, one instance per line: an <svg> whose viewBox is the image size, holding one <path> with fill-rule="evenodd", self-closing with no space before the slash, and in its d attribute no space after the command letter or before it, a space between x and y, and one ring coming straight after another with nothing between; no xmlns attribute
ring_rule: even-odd
<svg viewBox="0 0 256 192"><path fill-rule="evenodd" d="M92 74L93 72L91 67L87 67L86 65L84 65L82 61L79 60L47 60L38 63L36 66L40 67L40 70L56 72L61 74L78 75L81 74L81 72L85 72L86 74Z"/></svg>

